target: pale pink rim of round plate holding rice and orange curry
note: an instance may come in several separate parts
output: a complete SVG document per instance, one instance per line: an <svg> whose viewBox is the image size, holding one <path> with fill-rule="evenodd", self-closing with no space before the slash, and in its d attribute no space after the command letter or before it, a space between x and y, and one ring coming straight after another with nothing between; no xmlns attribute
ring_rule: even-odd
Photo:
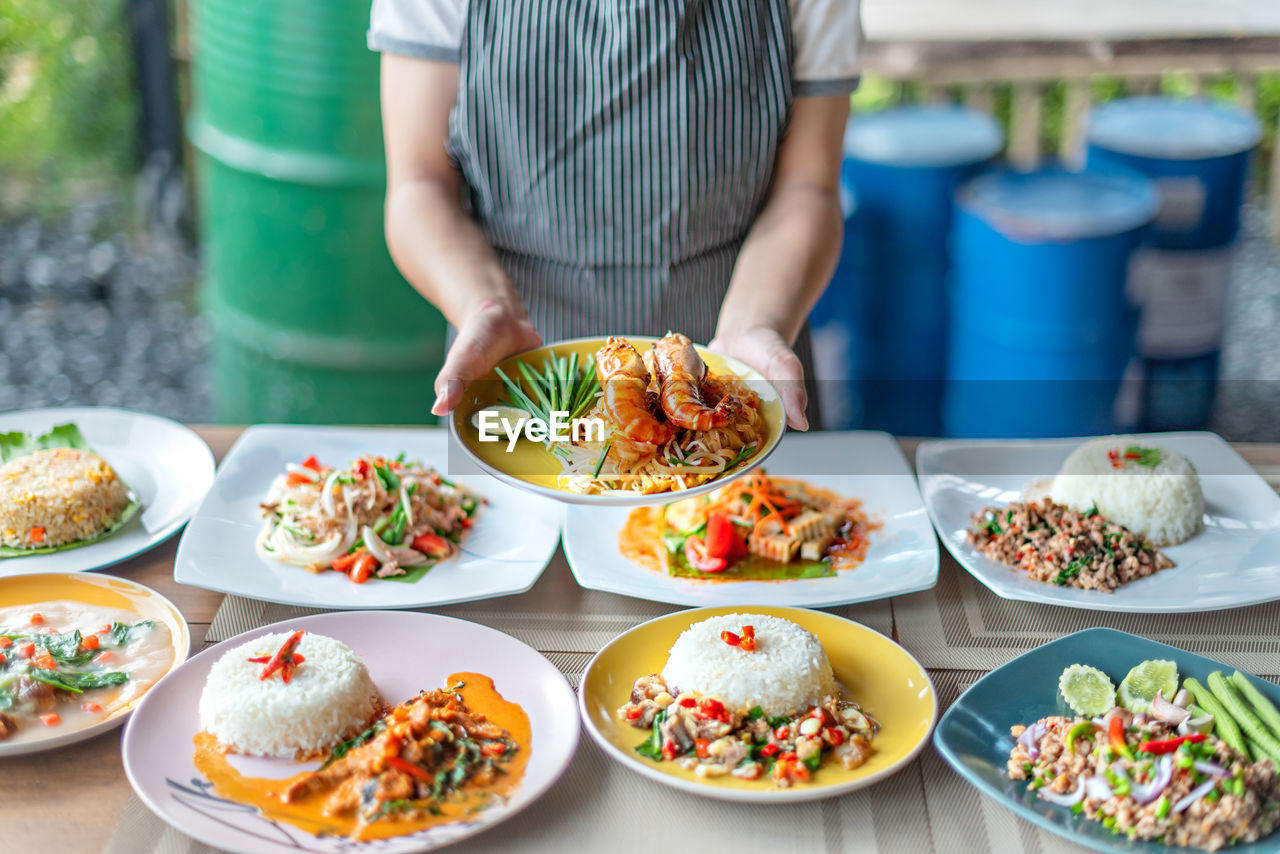
<svg viewBox="0 0 1280 854"><path fill-rule="evenodd" d="M463 626L465 627L465 629L462 629L463 631L467 631L467 632L479 632L481 635L489 635L493 643L511 644L511 645L515 645L516 648L520 648L521 652L526 656L526 661L517 665L516 659L512 659L512 666L513 667L529 668L530 667L530 662L532 662L531 666L534 668L543 668L545 671L545 677L549 680L550 685L553 685L553 688L550 689L549 693L559 695L559 698L554 700L554 705L557 707L557 711L563 717L554 720L556 729L557 729L557 735L553 736L553 737L552 736L547 736L545 732L547 732L548 727L544 727L543 729L541 741L550 743L550 744L561 744L562 745L562 749L559 752L561 755L557 757L557 755L553 754L553 757L552 757L552 766L553 767L548 769L548 772L545 773L544 778L541 778L541 780L531 781L530 780L530 768L526 768L526 771L525 771L525 780L521 782L521 786L516 790L516 794L508 802L507 809L503 809L500 812L484 812L484 813L480 813L481 818L479 818L475 822L467 823L467 825L444 825L444 826L435 827L435 828L431 828L431 830L428 830L428 831L421 831L419 834L412 834L410 836L396 836L396 837L389 837L387 840L374 840L372 842L366 842L366 844L351 842L348 840L335 840L337 842L339 842L339 846L332 849L333 851L338 851L338 850L356 850L356 851L358 851L358 850L370 850L370 851L372 851L372 850L390 850L390 851L396 851L396 853L399 853L399 854L407 854L408 851L434 850L436 848L443 848L445 845L452 845L453 842L457 842L457 841L463 840L463 839L470 839L471 836L475 836L476 834L480 834L480 832L483 832L485 830L489 830L490 827L500 825L502 822L509 819L512 816L518 814L525 808L527 808L530 804L532 804L535 800L538 800L544 794L547 794L547 791L553 785L556 785L556 782L563 776L563 773L568 768L570 763L572 763L573 755L577 753L579 736L581 734L581 726L580 726L579 720L577 720L577 704L573 702L573 689L570 688L568 681L564 679L564 675L561 673L556 668L556 666L552 665L550 661L547 659L545 656L543 656L541 653L539 653L532 647L530 647L530 645L527 645L527 644L517 640L516 638L512 638L511 635L508 635L506 632L498 631L497 629L492 629L492 627L481 625L481 624L468 622L466 620L458 620L456 617L444 617L444 616L440 616L440 615L412 612L412 611L396 611L396 612L387 612L387 611L343 611L343 612L332 612L332 613L319 613L319 615L312 615L312 616L308 616L308 617L298 617L298 618L294 618L294 620L282 620L280 622L275 622L275 624L271 624L269 626L261 626L259 629L252 629L250 631L241 632L239 635L236 635L234 638L228 638L227 640L223 640L223 641L220 641L220 643L218 643L218 644L215 644L215 645L212 645L212 647L210 647L210 648L207 648L207 649L197 653L196 656L191 657L189 659L187 659L182 665L182 667L183 668L186 668L188 666L191 666L191 667L200 667L200 668L204 668L205 672L207 673L209 667L211 667L212 663L216 661L216 658L220 657L223 653L225 653L228 649L230 649L233 647L237 647L237 645L244 643L246 640L252 640L253 638L259 638L261 635L271 634L273 631L280 631L283 629L307 627L307 626L316 625L316 624L319 624L319 625L323 626L323 625L329 624L329 622L335 621L335 620L337 621L357 621L357 620L361 620L361 618L383 620L387 616L393 615L393 613L394 615L406 615L406 616L412 617L412 618L424 618L424 620L438 621L438 622L443 622L443 624L453 624L453 625ZM333 631L333 629L326 629L326 631ZM376 667L376 665L374 667ZM370 671L374 675L374 677L376 679L376 672L374 672L374 667L370 667ZM500 686L502 675L500 673L495 673L495 672L494 673L485 673L485 676L489 676L490 679L493 679L494 682L498 684L498 690L502 691L502 686ZM504 697L507 697L507 695L504 694ZM152 699L152 698L159 698L159 699ZM134 709L136 712L140 713L140 720L145 721L147 718L147 716L152 714L150 707L152 704L160 703L163 699L164 699L163 694L155 694L154 691L148 691L147 695L143 698L142 703L140 703L138 707ZM189 698L189 699L191 699L192 704L195 705L195 703L198 700L198 697L193 697L193 698ZM511 697L507 697L507 699L511 699ZM160 711L160 709L157 709L155 712L155 714L163 714L163 713L164 712ZM195 712L192 712L192 713L195 713ZM532 727L532 726L534 726L534 721L530 720L530 727ZM563 731L559 731L561 726L563 726ZM196 735L195 732L191 734L192 737L195 737L195 735ZM539 741L539 731L531 729L531 735L532 735L534 741L538 743ZM140 773L141 773L140 769L134 767L134 763L140 762L140 759L136 759L134 757L138 755L140 752L146 750L146 745L145 744L142 744L141 746L136 746L136 743L142 743L146 737L147 737L146 735L137 734L137 730L131 723L131 726L125 727L125 730L124 730L124 736L122 739L122 746L120 746L120 754L122 754L122 758L124 761L124 773L125 773L125 776L129 780L129 785L133 787L134 794L142 800L142 803L145 803L147 805L147 809L150 809L161 821L164 821L165 823L175 827L177 830L182 831L183 834L188 834L188 835L193 836L195 839L200 840L201 842L205 842L206 845L212 845L215 848L225 848L228 845L233 845L236 839L241 839L241 837L243 837L244 840L251 839L251 836L248 834L246 834L242 828L239 828L239 827L237 827L234 825L230 825L232 831L228 831L228 832L233 832L233 835L229 836L229 837L223 837L223 836L218 836L218 835L214 835L214 834L205 832L205 830L204 830L202 826L197 826L197 827L192 828L188 825L182 823L180 819L179 821L174 821L175 817L172 816L165 809L165 807L163 804L156 803L156 800L151 796L150 789L143 784L143 781L140 780ZM547 752L549 749L550 749L549 746L541 748L543 752ZM535 753L536 753L536 748L535 748ZM164 775L161 773L161 776L164 776ZM256 812L255 813L246 813L246 816L251 816L253 818L257 818L257 813ZM227 822L221 822L221 823L225 825ZM294 828L294 831L298 835L306 836L306 834L303 831L301 831L301 830L296 830ZM449 831L453 831L453 832L449 832ZM430 839L433 835L444 836L444 839L440 839L440 840L436 841L436 840ZM312 837L312 839L319 839L319 837ZM243 848L243 849L238 849L238 850L289 851L289 850L297 850L297 848L287 845L284 842L276 842L274 845L268 845L266 848L264 848L261 845L255 845L253 848Z"/></svg>

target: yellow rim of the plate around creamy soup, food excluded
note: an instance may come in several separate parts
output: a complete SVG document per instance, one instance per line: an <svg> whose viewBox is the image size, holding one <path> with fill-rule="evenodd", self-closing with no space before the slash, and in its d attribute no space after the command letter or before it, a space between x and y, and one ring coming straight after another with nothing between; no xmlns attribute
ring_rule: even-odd
<svg viewBox="0 0 1280 854"><path fill-rule="evenodd" d="M27 575L10 575L0 577L0 603L4 606L38 606L42 602L81 602L83 604L99 606L102 608L118 608L131 611L146 620L163 622L169 627L169 640L173 644L173 663L165 671L164 679L172 673L182 662L187 661L191 652L191 630L182 612L151 588L142 586L136 581L118 579L111 575L90 575L87 572L32 572ZM156 680L159 684L159 680ZM152 685L151 688L155 688ZM150 691L150 689L147 689ZM124 723L129 712L146 697L146 691L133 699L132 703L118 708L109 717L102 718L93 726L69 732L49 730L49 736L35 741L18 741L9 744L0 741L0 757L15 757L24 753L38 753L51 750L77 741L92 739L100 732L114 730Z"/></svg>

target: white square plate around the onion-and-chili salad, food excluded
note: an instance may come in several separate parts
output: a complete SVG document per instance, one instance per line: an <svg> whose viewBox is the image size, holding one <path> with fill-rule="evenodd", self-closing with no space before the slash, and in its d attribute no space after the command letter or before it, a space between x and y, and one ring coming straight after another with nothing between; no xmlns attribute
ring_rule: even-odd
<svg viewBox="0 0 1280 854"><path fill-rule="evenodd" d="M563 511L556 502L484 475L451 475L489 503L462 539L462 553L412 584L375 579L352 584L340 572L315 575L262 558L253 548L262 525L259 502L284 463L314 453L328 465L344 466L362 453L404 452L447 471L447 448L448 435L440 429L252 426L228 452L183 533L174 579L312 608L420 608L524 593L556 552Z"/></svg>

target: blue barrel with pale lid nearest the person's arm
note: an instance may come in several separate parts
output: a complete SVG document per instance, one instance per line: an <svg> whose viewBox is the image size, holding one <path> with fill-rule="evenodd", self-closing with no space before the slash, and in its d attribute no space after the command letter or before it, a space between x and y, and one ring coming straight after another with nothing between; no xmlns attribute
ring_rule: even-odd
<svg viewBox="0 0 1280 854"><path fill-rule="evenodd" d="M988 115L902 106L850 119L844 183L858 196L828 291L852 312L864 426L937 435L946 360L943 291L951 196L1004 146Z"/></svg>

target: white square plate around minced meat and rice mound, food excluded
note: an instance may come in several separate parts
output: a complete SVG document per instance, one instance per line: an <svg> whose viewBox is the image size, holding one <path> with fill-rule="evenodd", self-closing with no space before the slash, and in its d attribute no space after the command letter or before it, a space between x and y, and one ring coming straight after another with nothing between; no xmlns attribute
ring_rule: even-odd
<svg viewBox="0 0 1280 854"><path fill-rule="evenodd" d="M1215 611L1280 599L1280 495L1213 433L1139 435L1196 466L1204 490L1204 530L1161 549L1174 561L1172 568L1114 593L1033 581L965 540L973 513L1018 501L1029 484L1056 475L1066 455L1088 439L923 442L915 467L947 549L1005 599L1134 613Z"/></svg>

